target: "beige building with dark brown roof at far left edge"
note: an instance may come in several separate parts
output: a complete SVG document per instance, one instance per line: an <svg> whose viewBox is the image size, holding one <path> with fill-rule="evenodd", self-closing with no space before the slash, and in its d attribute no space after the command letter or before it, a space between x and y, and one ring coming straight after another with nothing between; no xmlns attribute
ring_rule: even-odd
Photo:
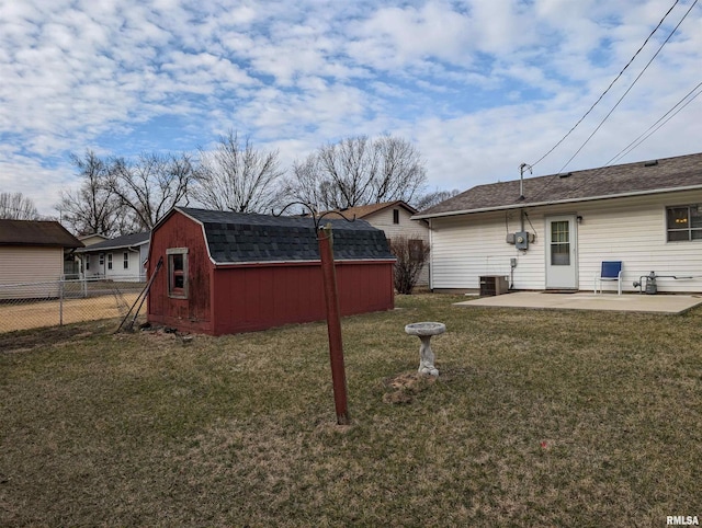
<svg viewBox="0 0 702 528"><path fill-rule="evenodd" d="M82 243L56 221L0 220L0 297L55 297L64 276L64 261Z"/></svg>

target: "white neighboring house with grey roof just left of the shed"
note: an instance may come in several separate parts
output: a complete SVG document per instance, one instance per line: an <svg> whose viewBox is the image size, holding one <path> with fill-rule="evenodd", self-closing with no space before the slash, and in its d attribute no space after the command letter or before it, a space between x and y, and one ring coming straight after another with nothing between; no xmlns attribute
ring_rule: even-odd
<svg viewBox="0 0 702 528"><path fill-rule="evenodd" d="M149 231L103 240L76 251L84 278L144 282L149 252ZM100 236L101 237L101 236Z"/></svg>

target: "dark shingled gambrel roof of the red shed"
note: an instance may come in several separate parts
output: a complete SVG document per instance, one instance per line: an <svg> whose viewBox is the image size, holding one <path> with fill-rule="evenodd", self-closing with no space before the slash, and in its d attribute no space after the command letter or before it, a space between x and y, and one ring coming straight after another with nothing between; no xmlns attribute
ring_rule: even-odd
<svg viewBox="0 0 702 528"><path fill-rule="evenodd" d="M203 226L210 256L216 264L319 260L317 237L310 218L189 207L173 210ZM322 220L324 225L328 222L333 231L335 260L395 260L385 233L366 221Z"/></svg>

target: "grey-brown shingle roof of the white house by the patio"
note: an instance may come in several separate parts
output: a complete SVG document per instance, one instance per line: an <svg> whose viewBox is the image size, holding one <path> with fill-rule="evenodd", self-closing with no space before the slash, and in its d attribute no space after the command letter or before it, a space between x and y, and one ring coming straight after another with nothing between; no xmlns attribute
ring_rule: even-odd
<svg viewBox="0 0 702 528"><path fill-rule="evenodd" d="M702 188L702 153L478 185L414 218Z"/></svg>

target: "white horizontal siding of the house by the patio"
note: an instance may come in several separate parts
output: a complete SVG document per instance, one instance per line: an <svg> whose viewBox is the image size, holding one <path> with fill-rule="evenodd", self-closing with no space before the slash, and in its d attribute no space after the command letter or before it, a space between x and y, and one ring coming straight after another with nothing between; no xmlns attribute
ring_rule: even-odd
<svg viewBox="0 0 702 528"><path fill-rule="evenodd" d="M666 241L666 207L702 204L702 192L666 193L578 204L528 208L524 230L535 232L529 251L506 242L508 232L521 229L518 210L434 218L432 276L434 289L478 289L480 275L510 275L517 257L514 289L544 289L546 219L579 215L577 226L578 288L591 289L600 264L623 261L623 289L637 291L633 282L655 271L657 275L695 276L659 278L661 292L702 291L702 240Z"/></svg>

